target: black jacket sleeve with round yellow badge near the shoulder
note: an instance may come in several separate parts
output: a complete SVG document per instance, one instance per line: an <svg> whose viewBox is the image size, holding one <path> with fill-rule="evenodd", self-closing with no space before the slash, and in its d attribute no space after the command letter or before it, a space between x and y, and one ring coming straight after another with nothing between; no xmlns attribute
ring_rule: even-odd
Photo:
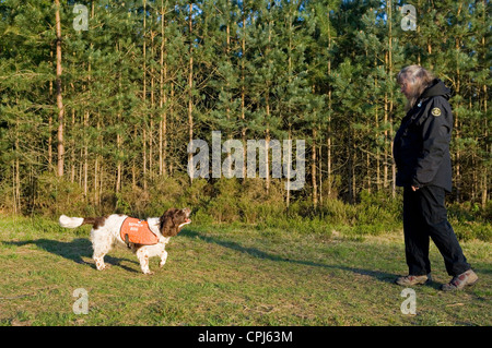
<svg viewBox="0 0 492 348"><path fill-rule="evenodd" d="M422 188L434 179L446 152L453 124L450 107L435 98L422 122L422 152L417 159L412 185Z"/></svg>

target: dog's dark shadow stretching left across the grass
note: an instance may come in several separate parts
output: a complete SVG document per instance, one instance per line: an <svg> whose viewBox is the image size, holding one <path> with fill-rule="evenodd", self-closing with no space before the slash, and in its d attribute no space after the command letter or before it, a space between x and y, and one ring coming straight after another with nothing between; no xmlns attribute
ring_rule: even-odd
<svg viewBox="0 0 492 348"><path fill-rule="evenodd" d="M47 252L62 256L65 259L71 260L79 264L91 265L94 269L95 264L85 262L82 257L92 257L92 243L90 240L85 238L78 238L69 242L62 242L59 240L51 239L36 239L36 240L26 240L26 241L2 241L3 244L24 247L28 244L34 244L39 249L46 250ZM130 268L128 266L121 265L121 261L133 262L139 264L137 261L130 261L127 259L113 257L109 255L104 256L104 261L109 265L119 266L129 272L138 271Z"/></svg>

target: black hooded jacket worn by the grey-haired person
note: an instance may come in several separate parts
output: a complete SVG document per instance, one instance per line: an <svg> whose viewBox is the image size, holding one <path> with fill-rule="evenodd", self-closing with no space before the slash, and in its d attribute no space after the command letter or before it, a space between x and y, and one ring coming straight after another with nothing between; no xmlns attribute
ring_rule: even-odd
<svg viewBox="0 0 492 348"><path fill-rule="evenodd" d="M450 96L452 91L436 79L401 120L393 147L397 185L432 184L452 191Z"/></svg>

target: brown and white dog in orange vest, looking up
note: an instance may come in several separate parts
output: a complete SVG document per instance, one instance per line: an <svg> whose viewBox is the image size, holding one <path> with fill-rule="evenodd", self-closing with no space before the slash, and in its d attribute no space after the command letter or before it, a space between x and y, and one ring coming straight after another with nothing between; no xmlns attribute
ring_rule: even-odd
<svg viewBox="0 0 492 348"><path fill-rule="evenodd" d="M61 227L77 228L82 225L92 225L91 241L94 250L93 259L97 269L103 271L107 266L104 263L104 255L119 242L120 244L127 244L136 254L140 261L140 266L144 274L152 274L149 269L149 257L161 256L160 266L164 266L167 260L167 252L165 250L166 243L171 237L176 236L181 228L190 224L189 215L191 209L167 209L161 217L150 217L144 224L150 230L150 235L154 235L155 243L140 244L128 240L128 235L122 232L124 225L128 225L129 220L137 220L128 217L127 215L109 215L108 217L68 217L61 215L59 224ZM136 225L136 224L133 224ZM125 236L125 237L122 237ZM125 239L126 240L125 240Z"/></svg>

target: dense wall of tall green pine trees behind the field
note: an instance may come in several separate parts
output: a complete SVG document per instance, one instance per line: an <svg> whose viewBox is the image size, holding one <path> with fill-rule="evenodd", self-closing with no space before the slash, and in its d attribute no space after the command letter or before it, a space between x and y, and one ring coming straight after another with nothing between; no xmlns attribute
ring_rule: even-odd
<svg viewBox="0 0 492 348"><path fill-rule="evenodd" d="M406 3L417 9L414 31L402 27ZM400 194L396 74L414 63L455 93L449 200L487 208L490 9L488 0L0 0L0 209L150 214L188 204L215 220L235 209L255 221L255 203L383 204ZM191 180L187 145L211 144L212 131L244 144L305 140L304 188L285 190L270 175Z"/></svg>

